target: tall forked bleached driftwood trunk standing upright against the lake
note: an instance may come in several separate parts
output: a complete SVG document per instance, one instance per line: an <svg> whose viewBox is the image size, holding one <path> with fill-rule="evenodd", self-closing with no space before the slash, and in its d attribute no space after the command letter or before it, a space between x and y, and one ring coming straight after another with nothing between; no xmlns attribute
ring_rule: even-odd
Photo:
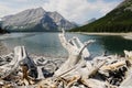
<svg viewBox="0 0 132 88"><path fill-rule="evenodd" d="M65 37L65 32L63 31L62 34L59 34L59 40L62 45L68 51L69 57L68 59L55 72L55 75L58 76L62 73L74 67L76 64L80 63L81 61L81 55L84 50L86 48L87 45L90 43L95 42L94 40L90 40L86 42L85 44L80 44L80 47L77 47L77 45L74 43L74 38L72 38L69 42L67 42Z"/></svg>

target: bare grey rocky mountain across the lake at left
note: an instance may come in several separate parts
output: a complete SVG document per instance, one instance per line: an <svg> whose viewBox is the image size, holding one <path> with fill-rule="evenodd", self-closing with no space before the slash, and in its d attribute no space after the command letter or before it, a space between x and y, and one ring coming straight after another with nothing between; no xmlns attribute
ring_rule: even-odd
<svg viewBox="0 0 132 88"><path fill-rule="evenodd" d="M13 15L2 18L3 29L15 32L59 31L76 25L63 18L58 12L47 12L43 8L28 9Z"/></svg>

